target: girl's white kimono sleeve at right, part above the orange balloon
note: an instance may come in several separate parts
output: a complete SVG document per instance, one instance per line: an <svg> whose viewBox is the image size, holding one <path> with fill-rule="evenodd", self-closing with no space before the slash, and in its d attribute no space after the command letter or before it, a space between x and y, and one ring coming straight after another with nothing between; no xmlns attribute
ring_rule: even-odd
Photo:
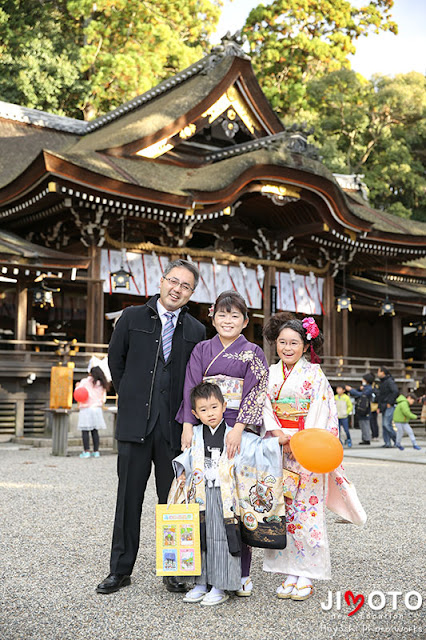
<svg viewBox="0 0 426 640"><path fill-rule="evenodd" d="M333 390L318 365L312 380L311 405L305 420L305 429L327 429L335 436L338 435L337 407Z"/></svg>

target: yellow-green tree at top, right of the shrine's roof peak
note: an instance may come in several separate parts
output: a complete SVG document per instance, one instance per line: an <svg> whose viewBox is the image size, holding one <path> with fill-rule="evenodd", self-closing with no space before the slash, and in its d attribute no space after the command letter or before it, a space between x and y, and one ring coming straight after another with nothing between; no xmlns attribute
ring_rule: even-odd
<svg viewBox="0 0 426 640"><path fill-rule="evenodd" d="M247 18L253 66L274 109L293 116L306 107L306 85L314 77L349 67L358 38L397 32L393 0L370 0L361 8L347 0L274 0Z"/></svg>

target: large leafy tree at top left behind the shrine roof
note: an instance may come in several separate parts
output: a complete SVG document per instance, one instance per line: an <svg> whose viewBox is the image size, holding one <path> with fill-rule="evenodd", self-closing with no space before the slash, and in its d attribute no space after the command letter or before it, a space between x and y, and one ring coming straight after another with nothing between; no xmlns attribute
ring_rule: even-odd
<svg viewBox="0 0 426 640"><path fill-rule="evenodd" d="M0 98L91 119L202 57L221 0L0 0Z"/></svg>

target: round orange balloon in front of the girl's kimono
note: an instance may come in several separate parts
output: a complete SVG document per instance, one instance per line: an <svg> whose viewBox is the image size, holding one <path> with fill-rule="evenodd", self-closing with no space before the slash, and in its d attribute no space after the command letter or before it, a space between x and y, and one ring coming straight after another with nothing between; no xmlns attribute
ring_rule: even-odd
<svg viewBox="0 0 426 640"><path fill-rule="evenodd" d="M343 447L336 436L325 429L303 429L290 438L297 462L308 471L329 473L343 460Z"/></svg>

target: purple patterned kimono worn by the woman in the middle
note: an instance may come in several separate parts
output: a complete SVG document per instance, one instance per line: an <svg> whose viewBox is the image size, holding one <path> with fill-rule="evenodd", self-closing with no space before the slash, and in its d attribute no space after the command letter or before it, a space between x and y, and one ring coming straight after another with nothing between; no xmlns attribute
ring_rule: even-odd
<svg viewBox="0 0 426 640"><path fill-rule="evenodd" d="M209 366L210 365L210 366ZM226 375L242 378L242 399L239 409L226 409L226 423L233 427L236 422L259 427L263 420L263 405L268 387L269 367L265 354L256 344L239 336L224 348L218 335L211 340L199 342L193 349L186 367L183 401L176 416L180 423L197 423L191 412L191 389L203 381L205 376Z"/></svg>

